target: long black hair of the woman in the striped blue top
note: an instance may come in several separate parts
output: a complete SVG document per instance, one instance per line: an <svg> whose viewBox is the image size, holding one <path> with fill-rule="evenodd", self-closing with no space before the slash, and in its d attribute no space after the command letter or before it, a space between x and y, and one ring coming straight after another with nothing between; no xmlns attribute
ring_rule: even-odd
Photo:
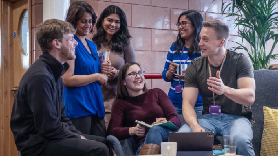
<svg viewBox="0 0 278 156"><path fill-rule="evenodd" d="M203 27L204 20L203 20L202 15L199 12L197 12L196 10L187 10L180 14L177 23L179 23L180 17L183 15L185 15L186 18L189 19L190 22L192 23L192 25L195 27L193 45L189 48L189 51L188 51L188 56L192 57L195 53L198 53L201 51L198 44L200 42L199 35L200 35L200 31ZM179 33L177 36L177 40L174 42L174 46L177 47L176 53L182 52L184 44L185 44L185 40L183 38L181 38L180 33Z"/></svg>

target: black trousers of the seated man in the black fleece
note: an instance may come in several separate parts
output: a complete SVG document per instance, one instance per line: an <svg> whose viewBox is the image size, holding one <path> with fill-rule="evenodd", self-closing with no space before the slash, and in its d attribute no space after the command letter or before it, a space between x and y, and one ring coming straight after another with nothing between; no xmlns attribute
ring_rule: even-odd
<svg viewBox="0 0 278 156"><path fill-rule="evenodd" d="M84 135L86 139L65 138L48 141L44 156L109 156L107 141L103 137Z"/></svg>

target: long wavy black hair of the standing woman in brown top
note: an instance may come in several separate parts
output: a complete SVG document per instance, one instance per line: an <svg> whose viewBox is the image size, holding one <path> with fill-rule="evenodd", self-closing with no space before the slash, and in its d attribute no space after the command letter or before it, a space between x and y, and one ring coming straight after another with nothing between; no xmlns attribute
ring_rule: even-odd
<svg viewBox="0 0 278 156"><path fill-rule="evenodd" d="M96 43L97 47L100 47L100 44L102 42L107 42L107 40L105 39L106 32L103 29L103 20L110 14L118 14L121 21L119 31L117 31L111 38L111 50L120 52L125 51L125 48L130 44L129 40L131 39L131 36L129 35L129 31L127 29L127 17L125 16L125 12L123 12L122 9L116 5L109 5L100 14L99 19L96 23L97 32L92 40Z"/></svg>

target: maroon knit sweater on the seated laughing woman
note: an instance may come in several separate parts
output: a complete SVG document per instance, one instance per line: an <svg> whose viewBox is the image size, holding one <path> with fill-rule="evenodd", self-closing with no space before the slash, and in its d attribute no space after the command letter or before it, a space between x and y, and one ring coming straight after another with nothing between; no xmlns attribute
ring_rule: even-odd
<svg viewBox="0 0 278 156"><path fill-rule="evenodd" d="M156 118L166 118L180 127L180 118L172 102L161 89L150 89L144 94L115 101L111 119L108 125L108 135L114 135L119 140L130 138L129 127L136 126L135 120L152 124ZM146 133L147 134L147 133ZM134 140L139 145L144 141L144 136L134 135Z"/></svg>

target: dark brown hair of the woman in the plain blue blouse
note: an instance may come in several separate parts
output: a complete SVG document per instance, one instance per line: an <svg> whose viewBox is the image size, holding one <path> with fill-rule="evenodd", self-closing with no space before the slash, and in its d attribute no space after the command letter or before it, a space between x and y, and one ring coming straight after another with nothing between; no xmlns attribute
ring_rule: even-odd
<svg viewBox="0 0 278 156"><path fill-rule="evenodd" d="M86 2L72 3L67 10L66 21L71 23L75 28L77 21L85 12L92 14L92 24L94 25L96 23L96 13L94 12L92 6ZM91 33L93 33L93 29L91 29Z"/></svg>

